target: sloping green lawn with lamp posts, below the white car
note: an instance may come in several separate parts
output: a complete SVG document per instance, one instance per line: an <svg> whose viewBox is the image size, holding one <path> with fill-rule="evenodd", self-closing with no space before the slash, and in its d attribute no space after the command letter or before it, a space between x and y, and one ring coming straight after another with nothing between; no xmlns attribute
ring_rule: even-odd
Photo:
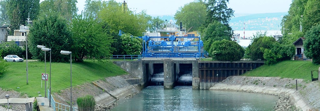
<svg viewBox="0 0 320 111"><path fill-rule="evenodd" d="M28 94L29 97L38 96L37 92L40 91L41 95L44 96L44 81L41 80L41 73L44 73L44 62L28 61L28 85L26 62L7 63L9 64L8 71L0 76L1 88L13 89L22 94ZM50 62L47 62L46 69L46 73L49 74ZM105 60L103 63L84 60L83 63L72 63L72 86L122 74L127 73L110 60ZM70 87L70 63L51 63L51 79L52 92Z"/></svg>

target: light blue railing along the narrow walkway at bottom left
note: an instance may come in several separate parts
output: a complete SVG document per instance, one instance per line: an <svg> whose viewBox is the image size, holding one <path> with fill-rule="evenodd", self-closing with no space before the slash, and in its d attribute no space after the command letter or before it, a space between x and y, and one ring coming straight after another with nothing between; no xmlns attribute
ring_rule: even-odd
<svg viewBox="0 0 320 111"><path fill-rule="evenodd" d="M47 94L48 97L49 97L49 94L50 94L50 91L48 89L48 94ZM50 95L50 96L51 96L51 107L53 108L54 111L70 111L70 106L56 102L56 101L54 101L52 95ZM50 98L48 98L48 99L50 99ZM56 106L56 104L57 104L57 106ZM78 108L72 107L72 111L77 111L77 110L78 110Z"/></svg>

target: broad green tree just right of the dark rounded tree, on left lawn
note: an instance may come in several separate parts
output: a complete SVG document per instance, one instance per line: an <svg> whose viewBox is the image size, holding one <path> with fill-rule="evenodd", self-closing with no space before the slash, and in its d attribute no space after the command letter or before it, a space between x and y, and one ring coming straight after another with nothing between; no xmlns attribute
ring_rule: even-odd
<svg viewBox="0 0 320 111"><path fill-rule="evenodd" d="M108 35L107 27L103 27L92 16L76 16L72 19L71 30L71 48L76 61L83 61L84 57L99 60L112 55L113 39Z"/></svg>

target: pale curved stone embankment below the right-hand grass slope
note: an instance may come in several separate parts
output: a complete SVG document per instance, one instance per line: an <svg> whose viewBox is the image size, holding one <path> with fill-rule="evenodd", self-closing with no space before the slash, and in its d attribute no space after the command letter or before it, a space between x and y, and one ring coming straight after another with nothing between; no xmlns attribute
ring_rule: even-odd
<svg viewBox="0 0 320 111"><path fill-rule="evenodd" d="M276 111L319 110L320 84L297 79L279 77L230 76L215 84L211 90L229 90L278 96Z"/></svg>

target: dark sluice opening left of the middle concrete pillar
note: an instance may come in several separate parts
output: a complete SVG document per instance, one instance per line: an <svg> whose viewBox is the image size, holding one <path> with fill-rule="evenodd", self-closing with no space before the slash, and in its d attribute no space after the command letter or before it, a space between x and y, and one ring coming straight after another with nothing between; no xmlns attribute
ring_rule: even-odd
<svg viewBox="0 0 320 111"><path fill-rule="evenodd" d="M164 84L164 64L155 63L153 64L152 73L150 75L149 85L150 86L163 86Z"/></svg>

